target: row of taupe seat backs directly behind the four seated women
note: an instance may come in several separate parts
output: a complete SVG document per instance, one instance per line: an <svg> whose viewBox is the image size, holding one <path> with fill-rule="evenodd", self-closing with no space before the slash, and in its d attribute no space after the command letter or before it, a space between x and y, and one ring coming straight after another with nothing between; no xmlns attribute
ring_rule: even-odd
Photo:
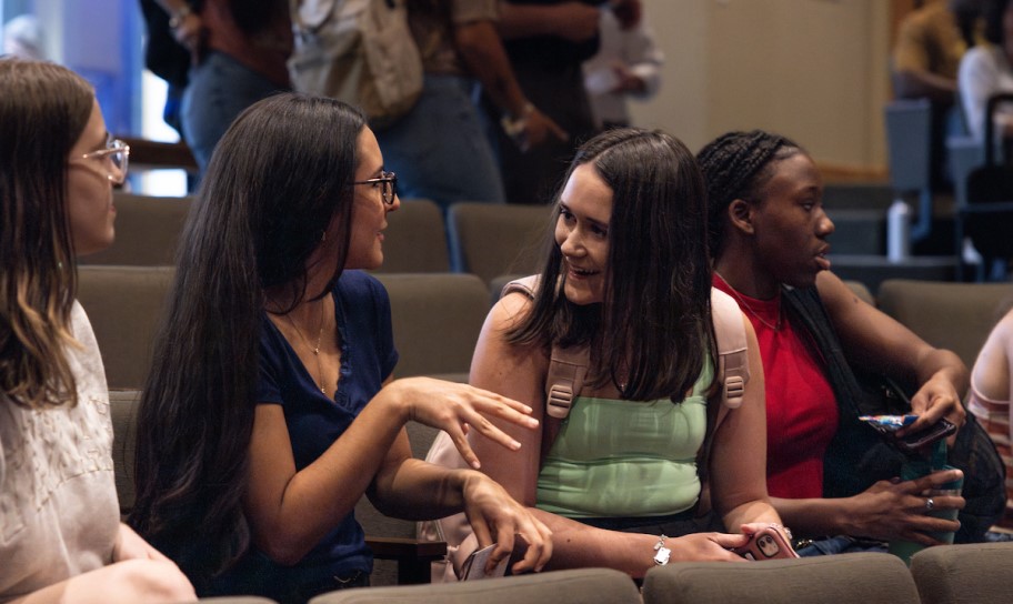
<svg viewBox="0 0 1013 604"><path fill-rule="evenodd" d="M111 389L143 386L154 332L173 266L79 266L78 299L102 351ZM510 276L492 286L471 273L379 273L391 299L398 376L465 381L485 314ZM1013 286L997 283L884 281L877 295L853 291L907 325L930 344L956 352L971 366Z"/></svg>

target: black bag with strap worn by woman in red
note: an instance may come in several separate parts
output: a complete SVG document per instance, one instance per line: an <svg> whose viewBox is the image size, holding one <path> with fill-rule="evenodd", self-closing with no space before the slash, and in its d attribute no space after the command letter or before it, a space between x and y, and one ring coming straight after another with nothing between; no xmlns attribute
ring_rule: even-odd
<svg viewBox="0 0 1013 604"><path fill-rule="evenodd" d="M825 360L840 409L838 433L823 459L823 496L849 497L877 481L900 476L904 454L859 416L910 412L910 390L884 375L852 370L815 288L785 290L784 300ZM957 516L961 527L954 542L980 543L1005 509L1006 470L992 439L971 413L956 433L949 463L964 472L966 501Z"/></svg>

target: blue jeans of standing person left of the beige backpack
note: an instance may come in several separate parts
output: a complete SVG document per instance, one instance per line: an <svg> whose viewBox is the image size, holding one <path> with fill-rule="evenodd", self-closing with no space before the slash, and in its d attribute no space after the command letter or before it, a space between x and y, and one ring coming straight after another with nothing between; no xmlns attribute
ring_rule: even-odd
<svg viewBox="0 0 1013 604"><path fill-rule="evenodd" d="M209 52L190 70L182 102L183 138L201 174L232 121L251 104L283 90L222 52Z"/></svg>

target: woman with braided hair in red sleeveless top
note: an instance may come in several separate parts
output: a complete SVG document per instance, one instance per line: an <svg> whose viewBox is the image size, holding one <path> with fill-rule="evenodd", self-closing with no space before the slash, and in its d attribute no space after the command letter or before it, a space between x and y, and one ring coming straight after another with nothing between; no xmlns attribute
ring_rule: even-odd
<svg viewBox="0 0 1013 604"><path fill-rule="evenodd" d="M863 430L849 413L857 382L851 368L916 385L915 433L943 416L964 422L967 369L861 301L830 272L823 181L812 158L789 139L730 132L698 154L706 180L713 283L739 302L756 331L766 375L768 490L796 536L820 540L800 554L835 553L904 538L939 543L930 532L959 524L925 514L961 509L960 496L922 492L959 471L914 481L861 480L847 444ZM894 476L895 474L887 474ZM866 476L867 477L867 476Z"/></svg>

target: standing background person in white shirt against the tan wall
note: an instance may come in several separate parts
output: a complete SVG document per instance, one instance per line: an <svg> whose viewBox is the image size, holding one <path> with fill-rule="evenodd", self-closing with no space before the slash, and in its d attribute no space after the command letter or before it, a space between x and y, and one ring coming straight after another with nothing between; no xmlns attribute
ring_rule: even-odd
<svg viewBox="0 0 1013 604"><path fill-rule="evenodd" d="M664 54L643 19L623 29L615 13L601 11L601 48L584 63L584 87L599 130L630 125L626 99L646 100L661 87Z"/></svg>

